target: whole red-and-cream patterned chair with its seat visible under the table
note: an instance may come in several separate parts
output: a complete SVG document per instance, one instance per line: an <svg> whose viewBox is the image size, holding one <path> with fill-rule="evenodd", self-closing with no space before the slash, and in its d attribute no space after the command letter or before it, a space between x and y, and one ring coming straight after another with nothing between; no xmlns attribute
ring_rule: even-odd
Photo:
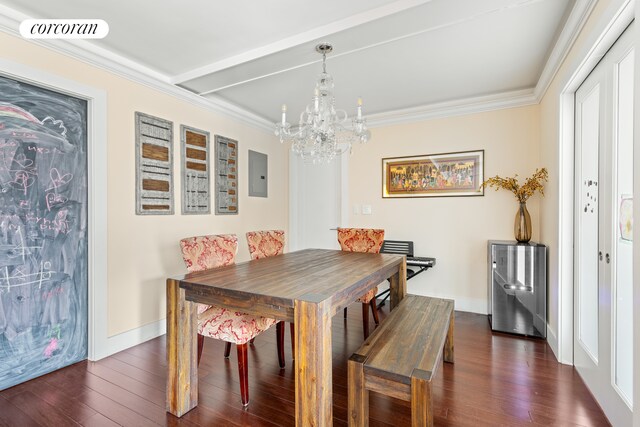
<svg viewBox="0 0 640 427"><path fill-rule="evenodd" d="M235 234L196 236L180 240L182 258L187 271L196 272L219 268L235 262L238 253L238 237ZM226 342L224 357L231 352L231 343L236 344L238 354L238 372L240 376L240 396L242 405L249 404L249 377L247 343L259 333L276 324L275 319L253 316L227 310L215 305L198 304L198 365L202 357L204 337ZM282 344L283 331L278 330L278 362L284 368Z"/></svg>

